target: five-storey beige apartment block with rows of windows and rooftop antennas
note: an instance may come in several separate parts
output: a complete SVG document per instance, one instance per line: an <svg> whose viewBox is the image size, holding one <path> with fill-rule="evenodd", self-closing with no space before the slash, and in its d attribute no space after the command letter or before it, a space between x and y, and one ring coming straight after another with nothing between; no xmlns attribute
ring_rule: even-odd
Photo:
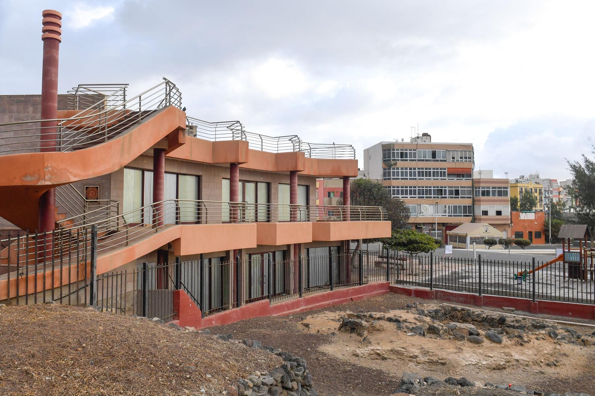
<svg viewBox="0 0 595 396"><path fill-rule="evenodd" d="M428 134L364 150L367 178L405 201L412 228L440 238L472 220L473 167L472 144L432 142Z"/></svg>

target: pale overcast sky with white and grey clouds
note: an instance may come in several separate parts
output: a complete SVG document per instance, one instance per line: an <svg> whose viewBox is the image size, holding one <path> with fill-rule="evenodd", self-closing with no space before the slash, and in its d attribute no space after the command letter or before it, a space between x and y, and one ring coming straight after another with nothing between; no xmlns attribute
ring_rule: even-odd
<svg viewBox="0 0 595 396"><path fill-rule="evenodd" d="M0 94L39 93L45 8L64 14L60 93L166 76L190 116L360 160L419 123L510 178L566 179L594 142L594 1L0 0Z"/></svg>

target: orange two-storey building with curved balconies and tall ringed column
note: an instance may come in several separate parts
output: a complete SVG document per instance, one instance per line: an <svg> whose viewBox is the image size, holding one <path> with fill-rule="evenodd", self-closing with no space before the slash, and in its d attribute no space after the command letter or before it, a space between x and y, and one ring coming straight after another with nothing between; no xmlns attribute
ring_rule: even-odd
<svg viewBox="0 0 595 396"><path fill-rule="evenodd" d="M166 78L137 96L78 85L58 100L61 15L43 17L41 95L0 102L0 216L20 230L0 252L0 301L73 286L91 302L89 279L123 271L120 310L140 284L184 290L203 313L358 284L349 240L389 237L390 221L349 205L353 147L192 118ZM317 208L317 178L339 178L345 205ZM162 270L146 278L151 263Z"/></svg>

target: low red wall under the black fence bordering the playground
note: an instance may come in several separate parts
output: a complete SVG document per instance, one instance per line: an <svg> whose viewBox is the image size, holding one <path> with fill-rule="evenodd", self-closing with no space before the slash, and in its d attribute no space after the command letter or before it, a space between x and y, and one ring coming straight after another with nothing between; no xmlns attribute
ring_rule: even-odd
<svg viewBox="0 0 595 396"><path fill-rule="evenodd" d="M478 296L477 294L452 292L450 290L430 290L423 287L389 286L392 293L406 294L426 300L443 300L458 304L491 306L502 308L509 306L518 311L543 313L546 315L568 316L570 318L595 319L595 306L589 304L561 301L537 300L503 296Z"/></svg>

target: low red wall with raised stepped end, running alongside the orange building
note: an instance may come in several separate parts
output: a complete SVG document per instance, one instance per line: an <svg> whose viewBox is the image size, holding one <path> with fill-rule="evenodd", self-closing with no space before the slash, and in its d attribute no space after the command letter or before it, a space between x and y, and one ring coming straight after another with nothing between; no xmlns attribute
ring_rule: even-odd
<svg viewBox="0 0 595 396"><path fill-rule="evenodd" d="M309 294L302 298L281 300L280 302L273 303L273 305L270 304L269 300L261 300L240 306L240 308L228 309L227 311L201 318L201 309L190 300L188 294L183 290L175 290L174 311L177 312L177 316L173 322L179 326L202 329L217 325L227 325L244 319L260 318L262 316L290 315L311 309L357 301L367 297L380 296L386 293L389 293L388 282L372 283L364 286L337 289L332 292Z"/></svg>

